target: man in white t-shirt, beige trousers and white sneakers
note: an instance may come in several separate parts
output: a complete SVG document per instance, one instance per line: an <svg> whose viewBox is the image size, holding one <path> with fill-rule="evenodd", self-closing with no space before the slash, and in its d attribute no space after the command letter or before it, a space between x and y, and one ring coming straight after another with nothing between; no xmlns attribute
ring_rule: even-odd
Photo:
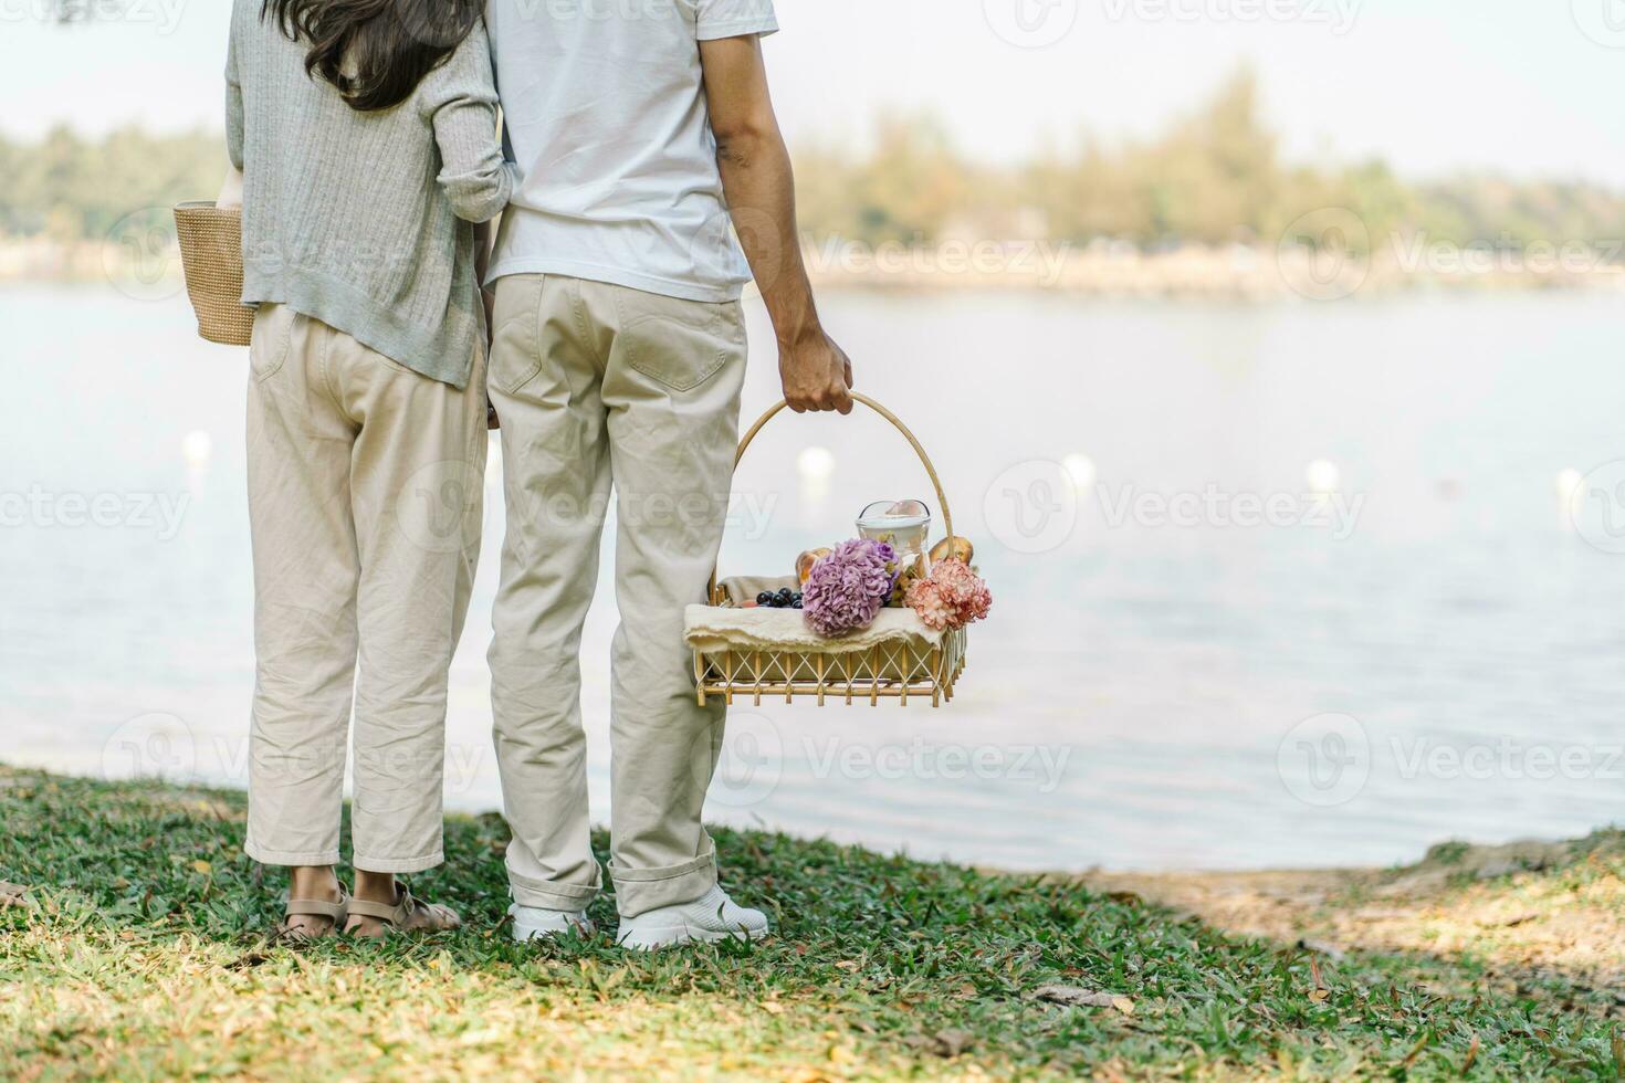
<svg viewBox="0 0 1625 1083"><path fill-rule="evenodd" d="M491 672L515 935L588 927L603 887L578 651L613 485L619 940L760 937L765 916L718 887L700 825L723 711L697 705L682 641L722 544L752 273L791 408L852 411L852 365L796 244L760 49L772 0L491 0L486 18L522 174L489 274L509 516Z"/></svg>

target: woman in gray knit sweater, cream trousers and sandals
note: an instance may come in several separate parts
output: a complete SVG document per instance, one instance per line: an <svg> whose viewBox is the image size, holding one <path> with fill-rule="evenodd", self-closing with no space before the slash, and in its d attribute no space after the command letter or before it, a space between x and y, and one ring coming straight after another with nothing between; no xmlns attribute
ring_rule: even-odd
<svg viewBox="0 0 1625 1083"><path fill-rule="evenodd" d="M284 930L450 929L398 874L442 861L445 690L479 547L474 222L509 200L481 0L236 0L254 736L247 851ZM358 671L359 661L359 671ZM338 864L354 711L356 890Z"/></svg>

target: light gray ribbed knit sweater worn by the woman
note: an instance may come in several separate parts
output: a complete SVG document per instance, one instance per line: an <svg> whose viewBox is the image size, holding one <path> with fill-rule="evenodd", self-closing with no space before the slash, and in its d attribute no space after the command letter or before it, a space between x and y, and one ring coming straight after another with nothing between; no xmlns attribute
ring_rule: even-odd
<svg viewBox="0 0 1625 1083"><path fill-rule="evenodd" d="M484 312L474 227L514 193L481 23L393 109L306 75L262 0L234 0L226 133L242 169L244 304L275 302L466 386Z"/></svg>

